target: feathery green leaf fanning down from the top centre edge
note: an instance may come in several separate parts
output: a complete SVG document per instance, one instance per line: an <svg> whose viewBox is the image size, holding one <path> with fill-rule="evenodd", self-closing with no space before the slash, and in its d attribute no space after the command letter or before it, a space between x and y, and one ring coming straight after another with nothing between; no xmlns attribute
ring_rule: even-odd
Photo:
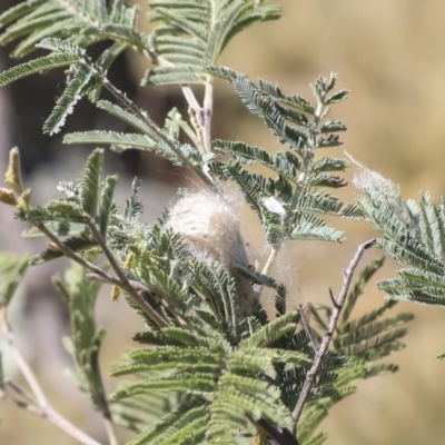
<svg viewBox="0 0 445 445"><path fill-rule="evenodd" d="M280 8L263 1L205 0L172 4L149 2L152 30L150 55L155 68L142 85L202 83L206 68L215 65L228 42L243 29L280 16Z"/></svg>

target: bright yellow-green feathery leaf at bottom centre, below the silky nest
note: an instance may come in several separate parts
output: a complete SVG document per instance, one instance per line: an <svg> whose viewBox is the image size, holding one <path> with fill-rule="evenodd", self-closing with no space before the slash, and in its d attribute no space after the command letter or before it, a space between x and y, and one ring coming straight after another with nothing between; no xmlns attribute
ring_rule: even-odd
<svg viewBox="0 0 445 445"><path fill-rule="evenodd" d="M180 392L186 393L199 404L197 409L201 415L209 416L207 438L221 437L222 425L226 425L227 438L235 437L238 428L245 429L248 426L246 414L255 419L266 417L283 426L290 426L290 414L280 404L278 388L266 382L259 380L258 372L266 375L274 374L274 363L309 363L305 354L296 354L279 349L269 349L263 345L273 343L276 338L295 329L289 320L296 314L290 314L276 323L265 326L251 340L247 339L239 344L239 347L229 347L219 336L204 337L199 327L206 328L206 324L195 325L194 342L184 338L188 347L184 346L158 346L149 349L135 350L130 354L134 362L119 366L115 375L144 373L145 379L127 386L115 394L115 398L121 399L134 394L151 392ZM168 333L168 330L167 330ZM192 333L192 332L191 332ZM178 332L179 334L179 332ZM200 344L202 344L200 346ZM191 346L196 344L196 346ZM260 346L261 345L261 346ZM295 360L295 362L294 362ZM154 370L162 370L164 374L155 375ZM215 380L216 379L216 380ZM199 397L205 395L205 399ZM198 398L196 398L198 397ZM179 409L180 405L179 405ZM187 418L185 415L184 418ZM136 443L149 443L149 437L155 437L155 432L170 431L171 422L175 425L175 434L186 434L188 423L185 423L184 431L179 429L179 418L176 414L160 419L154 427L142 433ZM248 426L251 431L251 426ZM181 433L179 433L181 432ZM170 437L171 431L168 434ZM179 437L179 436L175 436ZM196 441L196 438L195 438ZM161 439L159 443L169 443ZM190 442L198 443L198 442Z"/></svg>

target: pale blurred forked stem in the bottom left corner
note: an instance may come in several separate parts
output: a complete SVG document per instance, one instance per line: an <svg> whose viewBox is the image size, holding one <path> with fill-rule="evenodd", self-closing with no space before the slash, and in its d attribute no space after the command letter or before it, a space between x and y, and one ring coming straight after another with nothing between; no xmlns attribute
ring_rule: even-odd
<svg viewBox="0 0 445 445"><path fill-rule="evenodd" d="M67 421L63 416L61 416L55 408L52 408L33 370L31 369L28 362L24 359L23 355L21 354L19 347L16 344L14 335L9 326L6 316L6 308L0 313L0 325L1 325L1 330L3 332L7 343L16 359L16 363L19 366L21 373L23 374L24 379L27 380L28 385L30 386L36 397L36 405L31 405L29 403L21 403L20 405L23 406L30 413L33 413L42 418L46 418L52 424L57 425L60 429L65 431L68 435L76 438L79 443L83 445L101 445L99 442L88 436L86 433L83 433L81 429L79 429L77 426L72 425L69 421Z"/></svg>

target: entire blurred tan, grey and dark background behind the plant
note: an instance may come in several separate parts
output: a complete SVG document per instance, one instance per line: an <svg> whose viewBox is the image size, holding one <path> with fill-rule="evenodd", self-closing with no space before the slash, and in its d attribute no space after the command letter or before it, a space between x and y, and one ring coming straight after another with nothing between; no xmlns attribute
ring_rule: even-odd
<svg viewBox="0 0 445 445"><path fill-rule="evenodd" d="M2 0L0 12L19 3ZM141 3L142 11L145 2ZM320 73L338 72L339 88L349 88L349 99L334 106L332 118L348 127L340 135L344 146L326 155L339 156L347 150L359 162L400 185L405 199L417 198L419 190L431 190L435 200L445 191L445 3L438 0L276 0L284 8L279 21L256 26L236 38L220 59L221 65L279 83L287 93L310 97L309 82ZM141 13L141 27L145 13ZM8 48L0 49L0 69L11 66ZM147 69L136 55L122 57L110 72L110 79L146 107L154 119L162 121L172 107L186 112L177 88L141 89L139 79ZM19 146L23 157L24 180L32 187L36 202L58 196L57 181L78 178L90 148L62 146L61 137L41 135L41 126L65 79L60 72L21 80L0 90L0 170L6 171L8 150ZM82 101L68 118L65 131L91 128L118 128ZM214 137L240 139L271 150L277 141L250 116L224 82L217 81ZM352 178L354 168L346 172ZM172 202L179 186L198 187L187 172L168 162L137 151L117 156L107 152L107 171L119 172L118 199L130 192L134 176L144 180L142 199L147 221L159 216ZM343 189L345 199L354 189ZM248 234L251 258L264 261L267 250L264 237L249 209L244 210L244 230ZM0 248L34 253L36 241L20 238L23 226L13 221L8 208L0 207ZM298 244L286 246L275 274L289 286L289 306L300 301L329 303L328 287L337 293L342 270L357 245L374 236L364 224L336 221L347 230L340 246ZM378 251L366 254L366 260ZM72 422L106 442L100 418L63 375L70 362L60 344L68 334L67 314L55 294L49 276L50 264L32 268L27 285L14 301L12 323L28 359L37 369L55 407ZM387 259L377 279L394 277L397 265ZM359 310L370 310L384 295L369 285ZM268 296L265 295L268 304ZM270 301L271 304L273 301ZM445 350L439 310L400 304L399 312L415 312L405 339L407 348L389 357L400 370L392 376L358 385L357 394L342 402L323 423L329 433L328 444L343 445L417 445L445 443L445 397L441 384L445 364L435 356ZM131 335L139 320L122 301L110 303L107 293L98 303L99 323L108 328L105 340L103 369L123 357L131 346ZM139 327L136 327L139 328ZM141 326L140 326L141 328ZM1 338L0 338L1 340ZM7 370L14 367L7 357ZM48 366L50 364L50 366ZM110 388L111 379L107 379ZM76 444L49 423L0 403L1 444ZM123 439L123 436L122 436Z"/></svg>

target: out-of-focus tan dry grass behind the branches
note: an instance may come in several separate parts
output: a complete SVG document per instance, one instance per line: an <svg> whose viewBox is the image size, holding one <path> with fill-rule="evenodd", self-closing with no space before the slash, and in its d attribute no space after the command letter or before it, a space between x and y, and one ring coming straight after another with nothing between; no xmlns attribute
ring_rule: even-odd
<svg viewBox="0 0 445 445"><path fill-rule="evenodd" d="M405 198L431 190L438 200L445 188L445 3L438 0L277 0L275 3L284 7L283 19L245 32L229 46L221 63L303 96L310 95L308 83L319 73L338 72L339 87L352 89L352 95L346 102L334 107L333 117L344 120L349 130L343 135L344 147L326 154L342 156L346 149L362 164L399 184ZM128 62L138 76L142 69L140 59L130 57ZM230 89L222 82L217 86L215 136L277 149L271 135L243 109ZM348 178L350 175L346 174ZM354 190L342 190L342 195L352 198ZM156 214L171 197L170 189L161 202L150 195L148 187L145 199ZM253 257L261 260L264 240L255 231L248 210L245 217ZM373 236L362 224L343 222L343 227L348 230L348 239L342 246L300 244L281 254L277 273L288 283L294 304L327 303L327 288L339 290L342 267L347 265L356 246ZM369 253L366 259L377 255ZM388 260L378 278L394 276L396 269L397 265ZM360 310L379 305L383 297L369 286ZM445 443L442 384L445 364L435 359L445 349L441 330L444 315L404 304L399 310L416 313L406 337L407 348L392 357L400 365L400 372L360 383L356 395L335 407L322 425L329 433L328 444ZM137 322L121 301L111 305L106 296L100 300L99 313L100 322L109 327L103 352L109 364L129 346ZM27 332L34 337L52 329L36 323L32 328L38 334L31 328ZM40 350L34 355L40 355ZM66 365L63 359L55 364ZM61 369L52 369L48 375L48 366L41 363L36 366L55 405L75 422L97 431L99 421L80 402L70 383L58 377ZM1 444L73 444L43 421L4 407L0 405Z"/></svg>

